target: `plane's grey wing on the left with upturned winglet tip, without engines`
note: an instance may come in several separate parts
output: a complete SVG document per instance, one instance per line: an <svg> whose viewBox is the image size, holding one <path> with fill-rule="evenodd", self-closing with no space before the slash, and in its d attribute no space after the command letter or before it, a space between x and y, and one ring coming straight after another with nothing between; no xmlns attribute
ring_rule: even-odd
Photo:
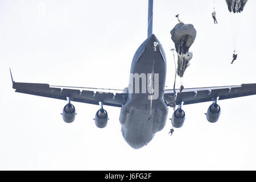
<svg viewBox="0 0 256 182"><path fill-rule="evenodd" d="M13 81L13 76L11 75ZM100 89L108 90L108 92L94 92L93 90L99 90L97 88L79 88L71 86L52 86L49 84L34 84L13 81L13 88L15 92L32 94L35 96L57 98L60 100L68 100L75 102L84 102L88 104L99 105L102 102L104 105L122 107L126 100L126 93L117 93L122 90L117 89ZM113 90L114 93L109 91ZM126 91L126 90L124 90Z"/></svg>

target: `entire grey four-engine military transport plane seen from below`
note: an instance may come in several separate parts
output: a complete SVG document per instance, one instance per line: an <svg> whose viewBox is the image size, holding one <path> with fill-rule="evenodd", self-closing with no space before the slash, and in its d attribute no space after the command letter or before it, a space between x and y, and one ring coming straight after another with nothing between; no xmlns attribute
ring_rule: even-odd
<svg viewBox="0 0 256 182"><path fill-rule="evenodd" d="M95 123L103 128L108 123L108 113L104 105L121 107L119 122L126 142L138 149L154 138L155 133L166 125L168 106L177 109L172 115L174 127L183 126L185 112L182 105L212 101L206 113L209 122L216 122L220 117L218 100L250 96L256 94L256 84L237 86L218 86L164 90L166 83L166 56L159 40L152 34L153 0L148 0L147 39L139 46L130 69L129 85L122 93L94 92L93 88L52 86L13 81L15 92L57 98L68 101L63 108L63 119L67 123L74 121L75 106L71 102L83 102L100 105L96 112ZM115 90L117 91L117 90Z"/></svg>

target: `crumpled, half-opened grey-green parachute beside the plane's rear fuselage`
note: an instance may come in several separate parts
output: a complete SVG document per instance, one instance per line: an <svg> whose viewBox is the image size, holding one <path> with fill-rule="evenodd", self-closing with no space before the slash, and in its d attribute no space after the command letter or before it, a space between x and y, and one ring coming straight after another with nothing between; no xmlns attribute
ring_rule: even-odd
<svg viewBox="0 0 256 182"><path fill-rule="evenodd" d="M192 24L180 22L171 30L171 39L175 43L177 52L177 75L183 77L185 69L192 59L192 52L188 52L189 47L196 39L196 30Z"/></svg>

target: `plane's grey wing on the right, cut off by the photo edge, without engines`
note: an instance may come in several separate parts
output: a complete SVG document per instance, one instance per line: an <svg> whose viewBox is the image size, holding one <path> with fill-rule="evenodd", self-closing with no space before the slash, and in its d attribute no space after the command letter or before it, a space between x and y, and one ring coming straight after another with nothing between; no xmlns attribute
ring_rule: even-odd
<svg viewBox="0 0 256 182"><path fill-rule="evenodd" d="M228 98L236 98L243 96L251 96L256 94L256 84L242 84L233 86L217 86L205 88L189 88L176 91L176 105L183 102L183 105L196 104L200 102L224 100ZM167 105L174 103L174 90L164 90L164 100Z"/></svg>

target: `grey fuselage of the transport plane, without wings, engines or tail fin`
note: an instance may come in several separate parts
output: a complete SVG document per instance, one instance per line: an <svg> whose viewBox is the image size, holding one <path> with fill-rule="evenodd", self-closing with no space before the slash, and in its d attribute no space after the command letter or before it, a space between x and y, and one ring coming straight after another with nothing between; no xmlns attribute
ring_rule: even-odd
<svg viewBox="0 0 256 182"><path fill-rule="evenodd" d="M139 84L136 84L135 77L139 77ZM135 149L145 146L166 125L168 107L163 100L165 82L166 56L153 34L135 52L128 97L119 117L123 138Z"/></svg>

